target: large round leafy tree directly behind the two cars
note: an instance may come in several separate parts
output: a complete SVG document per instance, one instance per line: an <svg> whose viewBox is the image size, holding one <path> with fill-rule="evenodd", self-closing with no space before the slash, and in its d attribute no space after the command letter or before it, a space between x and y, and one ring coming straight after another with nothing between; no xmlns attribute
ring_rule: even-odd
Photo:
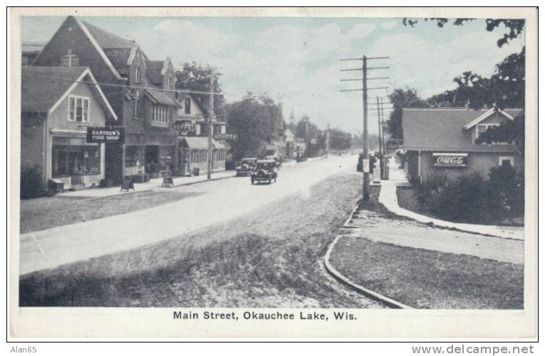
<svg viewBox="0 0 545 356"><path fill-rule="evenodd" d="M262 156L261 148L275 137L281 107L265 95L248 96L226 105L227 131L239 136L232 142L235 159Z"/></svg>

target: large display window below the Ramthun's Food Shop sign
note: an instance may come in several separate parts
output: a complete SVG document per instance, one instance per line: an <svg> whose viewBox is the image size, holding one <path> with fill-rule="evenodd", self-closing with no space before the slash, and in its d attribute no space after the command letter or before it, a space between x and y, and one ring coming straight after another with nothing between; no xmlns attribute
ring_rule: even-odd
<svg viewBox="0 0 545 356"><path fill-rule="evenodd" d="M100 146L65 146L53 143L52 176L100 174Z"/></svg>

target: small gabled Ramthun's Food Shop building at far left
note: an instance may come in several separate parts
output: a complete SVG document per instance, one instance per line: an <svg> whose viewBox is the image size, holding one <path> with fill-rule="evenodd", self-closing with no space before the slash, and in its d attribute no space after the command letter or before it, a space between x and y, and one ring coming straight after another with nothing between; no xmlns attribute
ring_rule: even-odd
<svg viewBox="0 0 545 356"><path fill-rule="evenodd" d="M64 188L99 185L105 144L88 144L88 126L117 115L87 67L24 67L21 73L21 176L39 172ZM51 79L56 78L56 79Z"/></svg>

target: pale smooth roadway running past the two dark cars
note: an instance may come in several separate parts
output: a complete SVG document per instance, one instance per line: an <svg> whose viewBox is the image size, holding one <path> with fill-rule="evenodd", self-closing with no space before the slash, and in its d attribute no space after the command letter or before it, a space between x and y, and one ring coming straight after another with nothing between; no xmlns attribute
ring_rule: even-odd
<svg viewBox="0 0 545 356"><path fill-rule="evenodd" d="M252 186L249 178L241 177L180 188L157 188L198 196L22 234L20 272L26 274L152 244L248 214L293 193L306 196L310 186L320 180L335 173L355 171L355 160L355 156L331 156L281 168L277 183L272 185Z"/></svg>

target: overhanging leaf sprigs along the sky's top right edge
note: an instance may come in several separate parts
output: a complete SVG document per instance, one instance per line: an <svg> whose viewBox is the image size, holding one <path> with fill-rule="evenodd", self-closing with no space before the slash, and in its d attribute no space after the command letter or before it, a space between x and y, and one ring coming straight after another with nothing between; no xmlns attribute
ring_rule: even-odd
<svg viewBox="0 0 545 356"><path fill-rule="evenodd" d="M437 26L440 28L444 27L445 24L450 21L448 18L424 18L423 20L435 21L435 23L437 23ZM463 26L465 23L474 20L476 20L476 18L454 18L452 19L452 24L454 26ZM403 18L403 25L414 27L418 23L418 21L420 21L420 19L418 18ZM504 26L504 28L508 30L507 33L504 33L504 36L502 36L502 38L499 38L499 40L497 41L498 47L502 47L502 45L508 43L514 38L519 37L524 31L524 20L520 19L487 18L486 23L486 28L489 32L494 31L500 26Z"/></svg>

